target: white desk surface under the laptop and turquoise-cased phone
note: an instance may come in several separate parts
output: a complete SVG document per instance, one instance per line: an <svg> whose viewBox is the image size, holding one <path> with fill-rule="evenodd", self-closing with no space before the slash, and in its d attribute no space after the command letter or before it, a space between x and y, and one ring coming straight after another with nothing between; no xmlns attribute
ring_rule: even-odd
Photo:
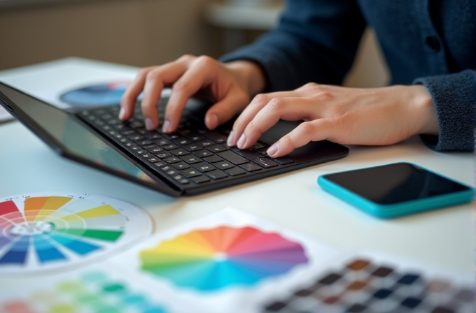
<svg viewBox="0 0 476 313"><path fill-rule="evenodd" d="M136 71L73 58L1 71L0 80L38 92L87 80L132 78ZM144 208L153 218L155 232L230 205L343 249L372 249L474 275L472 205L381 220L326 194L316 184L317 177L325 173L395 161L413 162L474 186L471 153L437 153L419 138L411 138L389 147L350 147L349 156L339 161L202 196L171 198L62 159L18 122L0 124L0 198L39 191L102 194ZM45 277L1 277L0 293L34 279Z"/></svg>

